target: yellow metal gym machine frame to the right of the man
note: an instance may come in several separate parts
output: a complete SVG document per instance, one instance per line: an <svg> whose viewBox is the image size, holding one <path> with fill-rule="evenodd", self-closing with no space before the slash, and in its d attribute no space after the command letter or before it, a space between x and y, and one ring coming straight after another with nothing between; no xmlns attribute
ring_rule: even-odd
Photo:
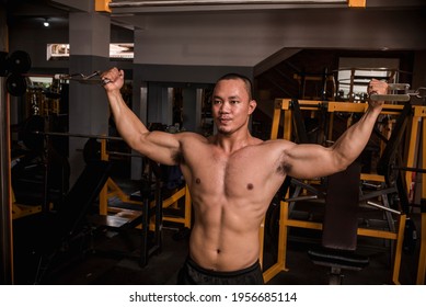
<svg viewBox="0 0 426 307"><path fill-rule="evenodd" d="M274 118L272 125L270 139L276 139L278 136L278 128L281 120L281 113L284 112L284 138L291 139L291 117L292 111L290 110L290 99L277 99L275 100L275 110L274 110ZM357 112L362 113L367 110L368 104L366 103L345 103L345 102L323 102L323 101L309 101L309 100L299 100L299 103L303 105L302 110L312 110L318 111L319 106L327 104L327 111L331 113L330 125L333 125L333 113L334 112ZM385 104L382 110L382 114L399 114L399 112L403 109L403 105L395 104ZM416 152L416 137L419 133L418 123L422 122L422 118L426 116L426 107L425 106L413 106L414 109L414 117L411 126L411 139L407 152L407 167L414 167L414 157ZM331 132L332 129L330 129ZM426 152L426 122L423 121L423 152ZM329 136L330 137L330 136ZM329 138L331 139L331 137ZM425 160L425 159L423 159ZM426 161L423 161L423 168L425 168ZM411 179L411 172L406 172L407 182ZM362 173L361 180L372 180L384 182L384 178L378 174L369 174ZM408 189L410 186L407 186ZM426 197L426 175L423 174L423 197ZM287 195L288 196L288 195ZM287 197L286 196L286 197ZM394 284L400 284L399 275L401 268L401 255L402 255L402 247L404 239L404 228L405 228L405 214L401 214L399 218L399 226L396 231L385 231L385 230L375 230L375 229L366 229L358 228L359 236L368 236L375 238L383 238L395 240L395 253L393 260L393 272L392 272L392 282ZM277 262L273 264L270 268L264 271L264 280L265 282L270 281L276 274L281 271L288 271L286 268L286 253L287 253L287 236L288 236L288 227L301 227L309 229L322 229L321 223L306 221L306 220L297 220L289 218L289 203L281 201L280 202L280 215L279 215L279 234L278 234L278 251L277 251ZM418 261L418 273L417 273L417 284L424 283L424 276L426 271L426 213L422 213L422 242L421 242L421 255ZM262 225L260 231L261 243L263 246L264 240L264 227ZM261 252L263 254L263 250ZM263 261L263 257L261 257L261 261Z"/></svg>

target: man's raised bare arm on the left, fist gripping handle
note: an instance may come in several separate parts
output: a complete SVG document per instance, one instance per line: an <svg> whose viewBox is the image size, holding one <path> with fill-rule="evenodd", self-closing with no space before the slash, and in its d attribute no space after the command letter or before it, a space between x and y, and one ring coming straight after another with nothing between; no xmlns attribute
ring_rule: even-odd
<svg viewBox="0 0 426 307"><path fill-rule="evenodd" d="M163 132L149 132L127 106L120 93L124 71L112 68L104 72L102 78L106 81L104 88L117 130L127 145L159 163L176 164L180 152L179 137Z"/></svg>

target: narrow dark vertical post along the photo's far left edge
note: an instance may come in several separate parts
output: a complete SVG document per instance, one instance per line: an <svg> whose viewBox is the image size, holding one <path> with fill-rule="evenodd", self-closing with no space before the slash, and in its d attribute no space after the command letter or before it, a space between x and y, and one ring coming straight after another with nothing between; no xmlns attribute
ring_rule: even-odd
<svg viewBox="0 0 426 307"><path fill-rule="evenodd" d="M0 77L0 284L13 284L13 239L10 173L10 118L5 78Z"/></svg>

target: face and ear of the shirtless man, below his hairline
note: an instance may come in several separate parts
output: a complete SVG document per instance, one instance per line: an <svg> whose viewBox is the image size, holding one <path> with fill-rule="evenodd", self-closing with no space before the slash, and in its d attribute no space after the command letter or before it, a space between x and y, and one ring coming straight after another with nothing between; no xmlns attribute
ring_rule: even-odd
<svg viewBox="0 0 426 307"><path fill-rule="evenodd" d="M241 127L246 127L250 114L255 107L256 102L250 101L243 80L221 80L216 84L212 115L219 133L232 134Z"/></svg>

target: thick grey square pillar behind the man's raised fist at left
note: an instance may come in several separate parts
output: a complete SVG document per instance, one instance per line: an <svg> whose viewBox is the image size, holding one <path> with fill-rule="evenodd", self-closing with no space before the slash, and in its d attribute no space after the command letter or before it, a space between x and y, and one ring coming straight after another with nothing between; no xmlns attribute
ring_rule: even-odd
<svg viewBox="0 0 426 307"><path fill-rule="evenodd" d="M70 12L69 43L71 46L68 67L70 73L91 73L110 68L111 19L107 14ZM99 35L102 33L102 35ZM108 134L108 103L102 87L78 82L69 84L68 103L71 134ZM84 138L69 138L69 161L71 164L70 185L84 169L80 149Z"/></svg>

